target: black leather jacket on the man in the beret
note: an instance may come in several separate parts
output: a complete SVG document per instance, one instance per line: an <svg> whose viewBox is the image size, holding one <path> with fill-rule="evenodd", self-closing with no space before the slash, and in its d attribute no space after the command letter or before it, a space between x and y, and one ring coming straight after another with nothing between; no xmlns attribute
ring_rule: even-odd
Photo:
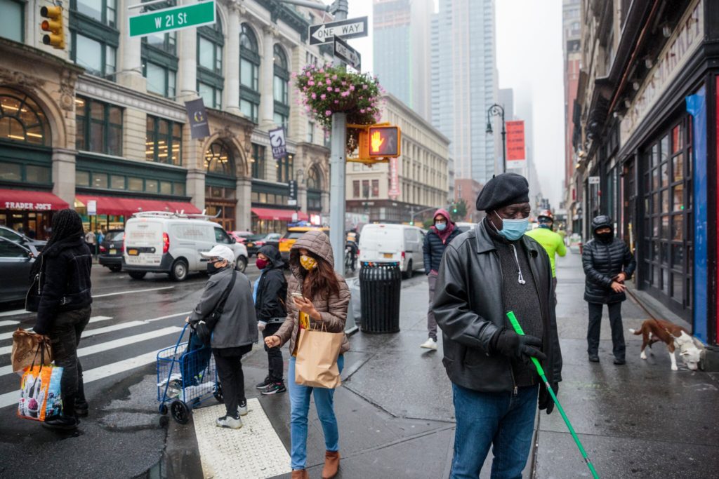
<svg viewBox="0 0 719 479"><path fill-rule="evenodd" d="M528 236L519 243L528 252L531 274L539 289L542 343L547 356L542 367L550 383L558 383L562 381L562 350L549 256ZM459 386L493 393L516 388L509 358L490 348L495 332L511 328L505 317L502 288L500 259L482 221L447 246L434 297L434 316L444 339L442 363L449 379Z"/></svg>

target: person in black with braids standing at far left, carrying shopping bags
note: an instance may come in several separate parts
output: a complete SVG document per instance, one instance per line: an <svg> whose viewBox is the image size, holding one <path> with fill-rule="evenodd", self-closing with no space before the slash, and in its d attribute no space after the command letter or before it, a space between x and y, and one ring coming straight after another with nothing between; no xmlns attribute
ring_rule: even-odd
<svg viewBox="0 0 719 479"><path fill-rule="evenodd" d="M77 417L88 414L77 348L90 320L91 269L92 254L80 215L75 210L58 211L52 217L52 236L32 267L37 283L28 292L28 304L37 304L33 329L50 338L55 366L63 368L63 414L42 423L52 429L75 429Z"/></svg>

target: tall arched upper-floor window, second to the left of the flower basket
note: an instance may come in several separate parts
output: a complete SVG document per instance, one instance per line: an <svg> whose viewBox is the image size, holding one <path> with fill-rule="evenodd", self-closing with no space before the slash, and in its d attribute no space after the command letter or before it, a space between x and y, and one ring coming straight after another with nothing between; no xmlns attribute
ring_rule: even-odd
<svg viewBox="0 0 719 479"><path fill-rule="evenodd" d="M260 110L260 48L249 24L239 34L239 109L257 123Z"/></svg>

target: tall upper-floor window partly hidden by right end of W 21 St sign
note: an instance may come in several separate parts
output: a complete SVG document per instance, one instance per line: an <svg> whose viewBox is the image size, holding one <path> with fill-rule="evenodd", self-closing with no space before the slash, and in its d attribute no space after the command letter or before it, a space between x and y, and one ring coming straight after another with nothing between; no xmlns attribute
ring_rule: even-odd
<svg viewBox="0 0 719 479"><path fill-rule="evenodd" d="M222 108L222 49L224 36L219 11L217 21L197 29L197 90L206 106Z"/></svg>

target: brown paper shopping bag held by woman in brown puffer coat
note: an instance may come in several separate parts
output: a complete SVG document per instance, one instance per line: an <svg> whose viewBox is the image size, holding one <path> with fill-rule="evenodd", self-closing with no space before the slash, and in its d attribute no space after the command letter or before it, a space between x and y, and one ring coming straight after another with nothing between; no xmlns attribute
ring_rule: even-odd
<svg viewBox="0 0 719 479"><path fill-rule="evenodd" d="M337 358L344 332L300 330L295 382L313 388L335 389L342 384Z"/></svg>

